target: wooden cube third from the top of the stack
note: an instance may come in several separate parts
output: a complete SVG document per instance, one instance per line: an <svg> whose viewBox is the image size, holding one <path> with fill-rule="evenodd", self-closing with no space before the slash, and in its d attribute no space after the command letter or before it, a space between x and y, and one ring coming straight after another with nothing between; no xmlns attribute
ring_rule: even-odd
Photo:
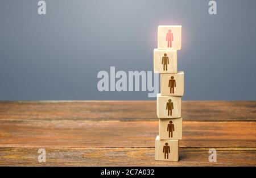
<svg viewBox="0 0 256 178"><path fill-rule="evenodd" d="M184 72L162 73L160 76L162 96L184 95Z"/></svg>

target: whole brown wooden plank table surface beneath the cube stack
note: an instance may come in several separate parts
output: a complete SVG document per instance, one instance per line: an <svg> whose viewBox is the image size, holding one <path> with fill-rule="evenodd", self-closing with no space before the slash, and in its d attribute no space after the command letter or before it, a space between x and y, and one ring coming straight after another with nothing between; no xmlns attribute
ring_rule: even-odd
<svg viewBox="0 0 256 178"><path fill-rule="evenodd" d="M180 161L159 162L155 101L0 101L0 165L256 166L256 101L183 101L181 113Z"/></svg>

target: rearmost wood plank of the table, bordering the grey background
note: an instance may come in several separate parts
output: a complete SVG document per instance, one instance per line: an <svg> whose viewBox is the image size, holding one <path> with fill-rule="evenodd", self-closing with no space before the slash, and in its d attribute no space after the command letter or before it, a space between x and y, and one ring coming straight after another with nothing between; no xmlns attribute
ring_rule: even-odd
<svg viewBox="0 0 256 178"><path fill-rule="evenodd" d="M256 101L183 101L184 121L256 121ZM0 121L156 121L156 101L0 101Z"/></svg>

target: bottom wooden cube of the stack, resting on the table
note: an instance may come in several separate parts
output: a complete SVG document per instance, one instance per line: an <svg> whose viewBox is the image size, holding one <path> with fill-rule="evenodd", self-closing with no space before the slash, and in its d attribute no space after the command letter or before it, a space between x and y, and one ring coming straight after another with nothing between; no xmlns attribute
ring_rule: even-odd
<svg viewBox="0 0 256 178"><path fill-rule="evenodd" d="M179 161L179 140L155 139L155 160L177 162Z"/></svg>

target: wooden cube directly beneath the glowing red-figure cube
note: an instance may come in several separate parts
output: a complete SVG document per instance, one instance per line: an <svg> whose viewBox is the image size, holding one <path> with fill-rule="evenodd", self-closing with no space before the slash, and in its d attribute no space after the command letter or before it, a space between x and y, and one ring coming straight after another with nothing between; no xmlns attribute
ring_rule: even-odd
<svg viewBox="0 0 256 178"><path fill-rule="evenodd" d="M177 73L177 50L154 49L154 72Z"/></svg>

